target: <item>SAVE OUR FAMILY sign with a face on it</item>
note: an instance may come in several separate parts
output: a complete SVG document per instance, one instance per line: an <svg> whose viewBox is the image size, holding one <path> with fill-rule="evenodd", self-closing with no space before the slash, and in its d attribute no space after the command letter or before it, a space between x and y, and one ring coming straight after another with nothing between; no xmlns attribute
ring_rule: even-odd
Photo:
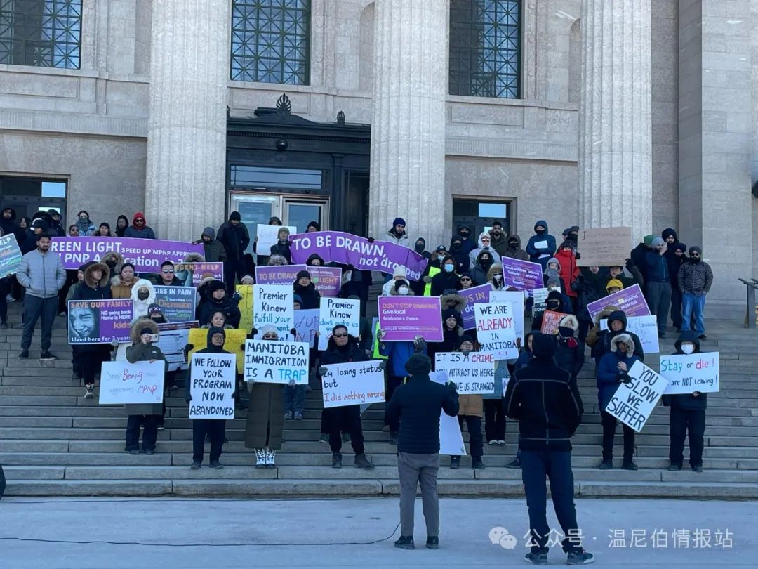
<svg viewBox="0 0 758 569"><path fill-rule="evenodd" d="M69 300L68 343L110 344L129 341L133 317L130 299Z"/></svg>

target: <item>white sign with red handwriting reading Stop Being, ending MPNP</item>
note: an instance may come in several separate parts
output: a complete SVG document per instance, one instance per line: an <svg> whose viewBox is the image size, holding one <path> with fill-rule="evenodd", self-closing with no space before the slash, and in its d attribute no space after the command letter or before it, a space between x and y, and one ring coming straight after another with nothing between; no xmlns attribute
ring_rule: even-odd
<svg viewBox="0 0 758 569"><path fill-rule="evenodd" d="M161 403L166 364L161 361L102 363L100 369L101 405Z"/></svg>

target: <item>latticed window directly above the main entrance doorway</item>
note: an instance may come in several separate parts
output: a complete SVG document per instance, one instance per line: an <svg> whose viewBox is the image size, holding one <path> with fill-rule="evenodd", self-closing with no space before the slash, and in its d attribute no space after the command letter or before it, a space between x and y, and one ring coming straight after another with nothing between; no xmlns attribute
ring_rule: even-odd
<svg viewBox="0 0 758 569"><path fill-rule="evenodd" d="M231 78L307 85L310 0L233 0Z"/></svg>

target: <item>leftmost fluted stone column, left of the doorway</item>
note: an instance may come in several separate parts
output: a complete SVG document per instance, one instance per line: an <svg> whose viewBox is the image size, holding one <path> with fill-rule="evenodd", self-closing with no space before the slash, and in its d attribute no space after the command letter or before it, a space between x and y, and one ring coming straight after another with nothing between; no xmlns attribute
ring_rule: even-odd
<svg viewBox="0 0 758 569"><path fill-rule="evenodd" d="M152 3L145 215L161 239L224 216L229 28L228 0Z"/></svg>

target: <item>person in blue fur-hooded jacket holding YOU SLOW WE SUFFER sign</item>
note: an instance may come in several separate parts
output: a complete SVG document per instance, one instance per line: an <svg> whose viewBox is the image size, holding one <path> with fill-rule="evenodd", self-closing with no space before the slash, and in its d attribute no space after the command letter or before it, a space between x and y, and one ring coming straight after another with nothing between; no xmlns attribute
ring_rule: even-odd
<svg viewBox="0 0 758 569"><path fill-rule="evenodd" d="M634 340L628 334L615 335L611 340L611 351L600 358L597 367L597 400L600 403L601 423L603 423L603 461L600 470L613 468L613 439L618 420L606 412L613 394L622 383L631 382L629 370L635 362L641 361L634 355ZM624 432L624 462L625 470L637 470L637 464L632 461L634 455L634 429L622 423Z"/></svg>

